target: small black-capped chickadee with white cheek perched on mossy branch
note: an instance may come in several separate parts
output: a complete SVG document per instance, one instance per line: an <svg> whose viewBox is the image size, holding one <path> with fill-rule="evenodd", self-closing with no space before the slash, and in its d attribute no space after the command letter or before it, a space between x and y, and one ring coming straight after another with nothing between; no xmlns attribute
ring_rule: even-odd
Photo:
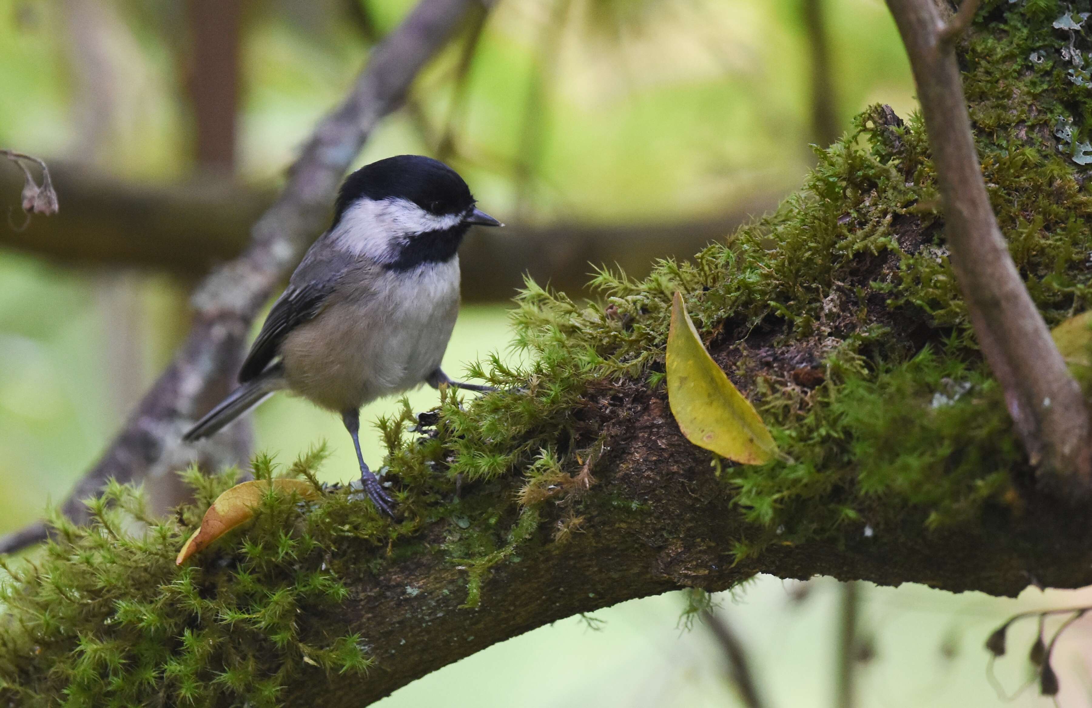
<svg viewBox="0 0 1092 708"><path fill-rule="evenodd" d="M330 228L296 268L239 371L241 386L183 436L213 435L274 391L340 413L377 508L394 502L360 452L360 408L428 384L472 391L440 368L459 314L459 245L475 208L453 169L430 157L371 163L342 184Z"/></svg>

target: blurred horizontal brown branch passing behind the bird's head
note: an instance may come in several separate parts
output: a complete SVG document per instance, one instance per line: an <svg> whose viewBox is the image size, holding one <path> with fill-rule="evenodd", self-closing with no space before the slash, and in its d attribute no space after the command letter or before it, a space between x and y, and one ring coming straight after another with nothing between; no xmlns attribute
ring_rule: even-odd
<svg viewBox="0 0 1092 708"><path fill-rule="evenodd" d="M146 268L185 279L237 258L247 246L249 225L274 198L214 178L155 187L67 163L55 163L52 173L64 211L22 231L0 227L0 246L64 264ZM19 189L14 170L0 173L0 194ZM746 194L720 215L675 223L474 229L461 250L463 299L508 300L523 285L524 273L579 293L587 283L589 263L617 262L640 275L656 258L685 258L724 237L751 215L772 210L782 196L774 190Z"/></svg>

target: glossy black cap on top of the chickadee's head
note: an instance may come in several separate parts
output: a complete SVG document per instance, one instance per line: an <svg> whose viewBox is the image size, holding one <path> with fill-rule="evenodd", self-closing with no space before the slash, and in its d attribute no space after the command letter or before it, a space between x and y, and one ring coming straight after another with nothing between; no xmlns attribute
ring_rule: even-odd
<svg viewBox="0 0 1092 708"><path fill-rule="evenodd" d="M454 169L424 155L396 155L365 165L345 178L334 203L334 223L361 197L407 199L438 216L474 205L470 187Z"/></svg>

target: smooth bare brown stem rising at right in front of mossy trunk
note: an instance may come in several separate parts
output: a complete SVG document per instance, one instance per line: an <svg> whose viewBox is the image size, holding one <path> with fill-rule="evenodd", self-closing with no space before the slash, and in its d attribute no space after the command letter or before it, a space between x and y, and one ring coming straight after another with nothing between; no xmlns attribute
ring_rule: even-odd
<svg viewBox="0 0 1092 708"><path fill-rule="evenodd" d="M934 0L888 0L910 56L940 181L952 268L986 362L1040 481L1092 493L1088 409L1009 256L989 204L950 42L977 3L947 25Z"/></svg>

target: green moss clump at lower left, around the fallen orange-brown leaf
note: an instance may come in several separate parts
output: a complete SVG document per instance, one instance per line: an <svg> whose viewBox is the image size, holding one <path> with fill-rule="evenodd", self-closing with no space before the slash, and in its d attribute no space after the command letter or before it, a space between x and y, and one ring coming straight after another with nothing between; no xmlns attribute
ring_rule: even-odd
<svg viewBox="0 0 1092 708"><path fill-rule="evenodd" d="M269 461L256 471L262 467L268 472ZM237 473L187 476L207 502ZM370 661L358 637L305 632L297 622L297 612L335 606L347 594L322 562L328 531L299 506L271 495L252 528L232 534L203 567L175 566L197 506L180 510L182 521L159 522L138 491L111 484L90 503L90 527L55 519L55 541L4 566L4 694L25 706L134 706L155 696L171 705L246 697L272 706L304 663L363 673Z"/></svg>

